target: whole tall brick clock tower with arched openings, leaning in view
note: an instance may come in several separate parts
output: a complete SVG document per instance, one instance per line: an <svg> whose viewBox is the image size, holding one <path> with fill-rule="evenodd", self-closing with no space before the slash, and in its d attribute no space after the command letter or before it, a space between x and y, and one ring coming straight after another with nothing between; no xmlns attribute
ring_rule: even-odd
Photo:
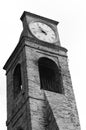
<svg viewBox="0 0 86 130"><path fill-rule="evenodd" d="M24 12L19 43L4 65L7 130L80 130L58 22Z"/></svg>

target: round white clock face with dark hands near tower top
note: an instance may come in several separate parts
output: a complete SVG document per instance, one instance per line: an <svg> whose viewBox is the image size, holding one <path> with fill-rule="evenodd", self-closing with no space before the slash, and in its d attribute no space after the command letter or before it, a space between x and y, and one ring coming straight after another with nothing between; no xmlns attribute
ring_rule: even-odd
<svg viewBox="0 0 86 130"><path fill-rule="evenodd" d="M29 24L31 33L39 40L53 43L56 41L56 34L54 30L45 23L31 22Z"/></svg>

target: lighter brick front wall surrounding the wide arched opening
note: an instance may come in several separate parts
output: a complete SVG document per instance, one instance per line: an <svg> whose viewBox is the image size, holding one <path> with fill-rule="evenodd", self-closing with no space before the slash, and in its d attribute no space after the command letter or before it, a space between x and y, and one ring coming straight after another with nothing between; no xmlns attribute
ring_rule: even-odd
<svg viewBox="0 0 86 130"><path fill-rule="evenodd" d="M33 100L31 99L32 108L36 108L37 106L38 107L40 106L40 109L42 109L43 106L41 106L42 105L41 103L43 102L42 100L44 100L49 104L51 113L53 113L53 116L51 117L53 117L56 121L56 124L58 124L56 129L58 129L59 127L59 129L61 130L79 130L80 126L79 126L74 93L72 89L70 73L68 69L67 57L57 56L56 58L53 57L53 55L52 56L47 55L47 53L39 54L37 50L34 49L30 50L28 47L26 48L26 55L28 57L27 59L28 86L29 86L28 91L30 97L33 98ZM39 78L39 73L38 73L39 71L37 65L37 61L40 57L48 57L50 59L53 59L57 63L57 65L60 65L62 79L63 79L64 94L58 94L54 92L40 90L40 78ZM34 107L33 107L33 102L36 102ZM37 102L40 103L38 104ZM37 108L34 111L37 114ZM32 116L33 116L33 111L32 111ZM39 116L42 115L39 114ZM39 116L37 115L37 117ZM43 120L43 117L39 117L39 121L37 120L36 122L35 120L36 124L38 122L40 124L40 120L41 120L40 118L42 118ZM35 118L33 118L33 120L34 119ZM40 128L37 127L37 129Z"/></svg>

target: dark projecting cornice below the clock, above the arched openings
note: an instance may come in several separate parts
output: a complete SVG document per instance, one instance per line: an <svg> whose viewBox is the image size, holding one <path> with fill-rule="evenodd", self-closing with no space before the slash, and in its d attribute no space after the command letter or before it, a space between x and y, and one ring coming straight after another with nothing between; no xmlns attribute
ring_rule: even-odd
<svg viewBox="0 0 86 130"><path fill-rule="evenodd" d="M33 44L35 44L34 48L35 49L38 49L38 47L45 47L45 48L51 48L52 50L55 50L56 51L64 51L65 53L67 52L67 49L64 48L64 47L61 47L59 45L54 45L54 44L50 44L50 43L47 43L47 42L44 42L44 41L39 41L39 40L36 40L35 38L32 38L32 37L22 37L19 41L19 43L17 44L16 48L14 49L13 53L11 54L11 56L9 57L9 59L7 60L6 64L4 65L3 69L7 70L8 68L8 65L10 64L11 60L14 58L14 56L17 54L17 52L19 50L21 50L24 46L26 46L27 44L25 43L26 41L29 41L29 47L33 47ZM37 46L38 45L38 46ZM41 50L41 49L40 49ZM51 52L49 49L48 49L49 52ZM53 52L51 52L53 53Z"/></svg>

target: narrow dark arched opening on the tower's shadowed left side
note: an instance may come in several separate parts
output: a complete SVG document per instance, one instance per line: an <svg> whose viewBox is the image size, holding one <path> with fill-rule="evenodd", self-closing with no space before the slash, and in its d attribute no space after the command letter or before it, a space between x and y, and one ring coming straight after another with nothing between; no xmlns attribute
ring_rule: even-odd
<svg viewBox="0 0 86 130"><path fill-rule="evenodd" d="M20 93L22 89L22 81L21 81L21 65L17 64L14 73L13 73L13 92L14 98Z"/></svg>

